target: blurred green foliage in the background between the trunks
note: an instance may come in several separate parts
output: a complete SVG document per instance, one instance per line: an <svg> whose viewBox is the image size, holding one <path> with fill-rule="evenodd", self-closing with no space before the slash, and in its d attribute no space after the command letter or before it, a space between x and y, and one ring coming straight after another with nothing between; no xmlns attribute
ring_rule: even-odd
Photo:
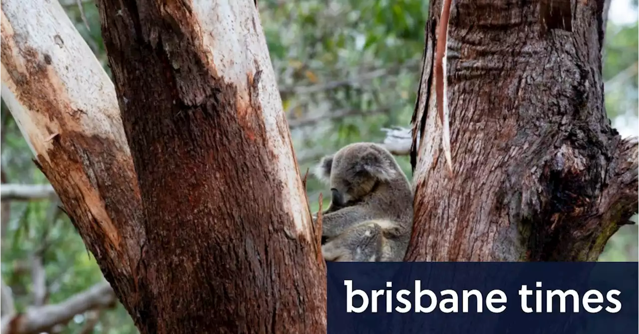
<svg viewBox="0 0 639 334"><path fill-rule="evenodd" d="M109 72L92 0L61 0ZM260 0L261 22L302 175L351 142L381 142L383 128L408 126L419 84L427 1ZM81 9L82 8L82 9ZM606 110L624 135L639 135L639 1L612 0L603 75ZM0 102L0 183L41 185L31 151ZM398 156L409 178L408 157ZM326 186L309 176L311 209ZM95 259L54 194L0 199L0 277L17 310L59 303L102 280ZM325 199L324 208L330 199ZM636 219L635 216L633 219ZM601 261L639 261L639 226L626 225ZM1 297L0 285L0 301ZM2 314L0 303L0 315ZM119 304L79 314L50 333L137 333Z"/></svg>

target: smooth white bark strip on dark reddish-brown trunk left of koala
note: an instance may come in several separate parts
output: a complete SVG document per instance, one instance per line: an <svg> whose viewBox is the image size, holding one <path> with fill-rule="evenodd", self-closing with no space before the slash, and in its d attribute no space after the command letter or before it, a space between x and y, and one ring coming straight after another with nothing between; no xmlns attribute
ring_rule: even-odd
<svg viewBox="0 0 639 334"><path fill-rule="evenodd" d="M259 13L252 1L194 0L193 13L201 22L204 49L212 73L238 88L238 106L250 105L250 84L261 71L258 82L259 103L270 149L275 156L277 179L283 180L284 209L293 215L298 234L311 238L311 216L307 214L304 186L282 110L275 72L268 54ZM212 15L213 13L213 15Z"/></svg>

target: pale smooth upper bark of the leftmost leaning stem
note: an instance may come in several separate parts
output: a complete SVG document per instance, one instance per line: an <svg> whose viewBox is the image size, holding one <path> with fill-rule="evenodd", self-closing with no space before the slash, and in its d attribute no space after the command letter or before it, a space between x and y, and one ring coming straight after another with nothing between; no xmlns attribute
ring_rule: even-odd
<svg viewBox="0 0 639 334"><path fill-rule="evenodd" d="M1 94L36 156L48 160L50 137L65 130L112 137L121 149L128 151L114 86L58 1L3 0L0 43L4 49L0 64ZM7 56L8 59L4 58ZM43 68L36 72L35 66ZM12 68L15 72L8 73ZM32 77L35 74L43 76ZM34 96L20 94L22 82L15 82L17 77L33 80L29 82L31 85L47 80L41 98L58 107L69 119L52 120L47 110L24 109L23 99ZM63 129L62 121L72 122L67 123L68 129Z"/></svg>

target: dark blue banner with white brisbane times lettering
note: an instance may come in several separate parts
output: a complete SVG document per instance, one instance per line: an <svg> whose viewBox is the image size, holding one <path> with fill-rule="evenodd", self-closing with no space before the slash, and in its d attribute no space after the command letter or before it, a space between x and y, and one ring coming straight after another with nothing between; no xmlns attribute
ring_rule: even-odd
<svg viewBox="0 0 639 334"><path fill-rule="evenodd" d="M639 333L636 262L328 262L328 334Z"/></svg>

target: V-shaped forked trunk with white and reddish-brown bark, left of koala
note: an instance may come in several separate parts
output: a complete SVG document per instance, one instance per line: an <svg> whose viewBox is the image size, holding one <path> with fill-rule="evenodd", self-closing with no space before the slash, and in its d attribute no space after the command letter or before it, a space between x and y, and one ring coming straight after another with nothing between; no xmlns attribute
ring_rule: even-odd
<svg viewBox="0 0 639 334"><path fill-rule="evenodd" d="M3 0L2 96L137 327L325 331L319 231L254 3L99 7L119 105L56 1Z"/></svg>

